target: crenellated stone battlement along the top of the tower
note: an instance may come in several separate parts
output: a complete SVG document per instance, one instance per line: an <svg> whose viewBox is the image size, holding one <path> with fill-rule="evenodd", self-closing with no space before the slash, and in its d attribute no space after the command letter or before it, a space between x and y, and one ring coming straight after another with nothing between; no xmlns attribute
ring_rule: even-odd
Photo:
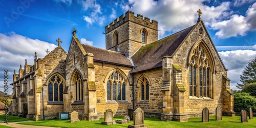
<svg viewBox="0 0 256 128"><path fill-rule="evenodd" d="M158 29L158 22L156 20L153 19L152 21L150 21L150 18L148 17L144 17L143 19L143 15L137 14L137 16L135 16L134 12L127 11L125 12L125 16L122 14L121 16L116 18L111 24L105 26L105 33L109 33L116 27L128 21L134 22L136 24L139 24L148 28L152 28L155 30Z"/></svg>

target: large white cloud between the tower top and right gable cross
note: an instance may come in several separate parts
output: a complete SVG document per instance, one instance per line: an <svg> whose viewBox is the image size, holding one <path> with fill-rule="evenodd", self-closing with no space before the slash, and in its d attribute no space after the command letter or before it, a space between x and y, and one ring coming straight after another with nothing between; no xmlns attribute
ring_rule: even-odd
<svg viewBox="0 0 256 128"><path fill-rule="evenodd" d="M203 1L174 1L174 0L145 0L145 1L129 1L123 3L124 11L131 10L150 17L158 21L158 29L160 38L165 32L177 32L186 27L195 25L200 8L203 12L201 16L205 24L208 25L218 18L228 15L229 2L223 2L217 7L209 7L203 4ZM184 8L186 7L186 8ZM158 11L156 11L158 10Z"/></svg>

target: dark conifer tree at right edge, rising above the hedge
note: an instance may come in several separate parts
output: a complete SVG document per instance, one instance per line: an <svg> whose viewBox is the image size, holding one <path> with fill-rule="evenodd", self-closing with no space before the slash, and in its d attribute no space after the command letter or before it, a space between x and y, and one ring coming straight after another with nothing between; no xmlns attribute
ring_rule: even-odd
<svg viewBox="0 0 256 128"><path fill-rule="evenodd" d="M247 83L256 82L256 57L248 62L248 65L244 68L242 75L240 75L240 81L236 86L239 89L243 89Z"/></svg>

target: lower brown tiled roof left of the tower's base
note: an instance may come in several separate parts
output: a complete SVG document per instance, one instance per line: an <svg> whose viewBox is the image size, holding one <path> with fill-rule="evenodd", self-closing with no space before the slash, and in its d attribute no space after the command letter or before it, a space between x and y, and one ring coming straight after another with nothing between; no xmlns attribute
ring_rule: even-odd
<svg viewBox="0 0 256 128"><path fill-rule="evenodd" d="M109 62L116 65L123 65L129 67L133 66L131 61L124 54L83 44L82 47L87 53L92 53L94 55L93 59L96 61Z"/></svg>

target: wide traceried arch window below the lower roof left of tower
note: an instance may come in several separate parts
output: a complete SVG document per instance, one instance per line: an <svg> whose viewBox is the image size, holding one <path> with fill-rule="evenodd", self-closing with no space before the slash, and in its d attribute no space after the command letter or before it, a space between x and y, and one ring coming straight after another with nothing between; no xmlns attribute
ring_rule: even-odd
<svg viewBox="0 0 256 128"><path fill-rule="evenodd" d="M125 85L124 76L113 72L106 83L107 100L125 100Z"/></svg>

